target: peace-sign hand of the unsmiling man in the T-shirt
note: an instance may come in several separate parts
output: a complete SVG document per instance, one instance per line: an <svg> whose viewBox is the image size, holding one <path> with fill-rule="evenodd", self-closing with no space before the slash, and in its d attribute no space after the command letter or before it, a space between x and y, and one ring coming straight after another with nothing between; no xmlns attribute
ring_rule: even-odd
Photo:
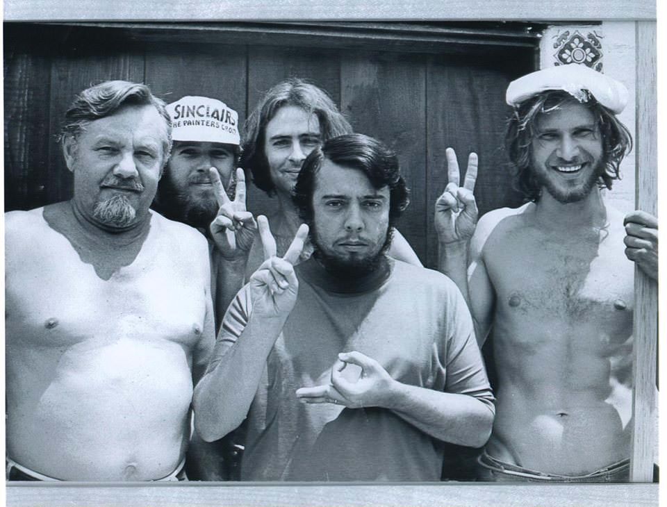
<svg viewBox="0 0 667 507"><path fill-rule="evenodd" d="M285 255L276 256L276 240L271 234L269 221L257 217L259 235L264 249L264 263L250 277L253 311L268 316L285 316L297 301L299 281L294 265L299 260L308 237L308 226L301 224Z"/></svg>

